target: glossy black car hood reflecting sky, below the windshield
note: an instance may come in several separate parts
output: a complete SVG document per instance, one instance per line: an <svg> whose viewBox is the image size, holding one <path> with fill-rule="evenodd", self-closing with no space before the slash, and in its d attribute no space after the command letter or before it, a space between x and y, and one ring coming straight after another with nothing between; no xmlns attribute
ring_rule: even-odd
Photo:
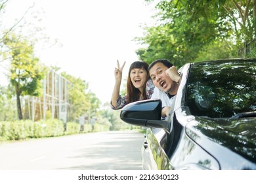
<svg viewBox="0 0 256 183"><path fill-rule="evenodd" d="M205 151L219 159L219 162L223 162L221 163L222 169L256 169L255 140L248 138L255 134L240 135L243 132L246 133L247 130L244 131L244 129L247 127L254 125L255 129L255 119L247 119L247 122L252 122L246 125L241 121L244 120L235 122L232 120L233 123L217 125L211 120L197 120L196 118L186 126L186 134L200 144ZM241 127L242 124L244 127Z"/></svg>

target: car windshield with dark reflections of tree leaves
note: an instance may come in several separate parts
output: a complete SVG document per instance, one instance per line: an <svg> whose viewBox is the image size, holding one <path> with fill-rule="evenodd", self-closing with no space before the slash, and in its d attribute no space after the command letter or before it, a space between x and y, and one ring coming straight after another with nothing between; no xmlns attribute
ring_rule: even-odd
<svg viewBox="0 0 256 183"><path fill-rule="evenodd" d="M256 110L256 60L195 63L186 106L194 116L230 118Z"/></svg>

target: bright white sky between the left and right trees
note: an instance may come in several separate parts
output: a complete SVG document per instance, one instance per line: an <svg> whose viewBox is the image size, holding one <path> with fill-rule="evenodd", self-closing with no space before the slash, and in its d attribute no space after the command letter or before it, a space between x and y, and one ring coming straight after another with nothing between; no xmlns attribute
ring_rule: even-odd
<svg viewBox="0 0 256 183"><path fill-rule="evenodd" d="M45 33L62 44L37 50L40 61L87 81L102 104L111 99L117 59L126 61L126 78L129 65L139 60L135 50L142 47L133 39L142 36L140 25L154 22L153 5L144 0L9 1L9 17L24 14L35 3L33 10L43 12Z"/></svg>

